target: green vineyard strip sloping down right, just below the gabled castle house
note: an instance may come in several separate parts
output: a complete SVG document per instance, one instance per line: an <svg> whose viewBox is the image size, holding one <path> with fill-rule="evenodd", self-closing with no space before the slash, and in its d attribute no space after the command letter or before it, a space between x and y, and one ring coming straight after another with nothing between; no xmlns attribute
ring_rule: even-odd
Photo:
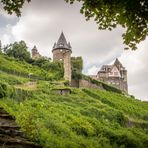
<svg viewBox="0 0 148 148"><path fill-rule="evenodd" d="M148 104L131 97L125 97L113 92L100 90L83 90L89 96L100 100L102 103L125 112L133 118L139 117L148 121Z"/></svg>

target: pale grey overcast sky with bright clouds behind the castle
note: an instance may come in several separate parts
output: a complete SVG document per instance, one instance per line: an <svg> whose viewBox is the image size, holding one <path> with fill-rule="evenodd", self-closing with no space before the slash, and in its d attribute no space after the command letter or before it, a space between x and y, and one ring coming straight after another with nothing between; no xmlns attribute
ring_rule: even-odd
<svg viewBox="0 0 148 148"><path fill-rule="evenodd" d="M148 39L138 45L137 51L124 51L124 29L99 31L94 21L87 22L80 14L79 3L70 5L64 0L32 0L23 7L20 18L0 11L3 45L24 40L29 50L36 45L42 55L52 57L53 44L61 31L71 43L72 56L83 57L85 74L96 74L101 65L119 58L128 70L129 93L148 100Z"/></svg>

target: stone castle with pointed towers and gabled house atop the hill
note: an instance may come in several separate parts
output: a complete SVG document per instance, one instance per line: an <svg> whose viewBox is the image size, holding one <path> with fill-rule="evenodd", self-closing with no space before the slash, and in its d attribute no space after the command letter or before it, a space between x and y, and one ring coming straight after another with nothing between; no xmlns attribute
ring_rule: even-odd
<svg viewBox="0 0 148 148"><path fill-rule="evenodd" d="M53 49L53 61L62 61L64 65L64 78L70 83L72 81L72 66L71 66L71 54L72 47L70 42L66 41L64 33L62 32L57 43L54 43ZM36 47L32 49L32 58L37 59L41 57ZM98 71L97 75L90 76L98 81L103 81L116 88L121 89L125 93L128 93L127 85L127 70L120 63L118 59L115 60L112 65L103 65Z"/></svg>

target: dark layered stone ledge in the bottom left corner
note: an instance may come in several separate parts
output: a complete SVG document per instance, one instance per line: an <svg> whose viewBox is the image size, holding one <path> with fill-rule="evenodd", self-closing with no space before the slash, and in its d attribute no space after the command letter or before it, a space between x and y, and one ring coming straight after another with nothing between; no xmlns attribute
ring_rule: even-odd
<svg viewBox="0 0 148 148"><path fill-rule="evenodd" d="M0 107L0 148L42 148L19 131L15 118Z"/></svg>

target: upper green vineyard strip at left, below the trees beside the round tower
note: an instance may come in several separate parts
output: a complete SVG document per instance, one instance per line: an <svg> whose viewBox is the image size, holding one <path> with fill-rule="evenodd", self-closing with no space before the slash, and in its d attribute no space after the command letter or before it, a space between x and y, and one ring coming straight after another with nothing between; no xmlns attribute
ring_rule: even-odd
<svg viewBox="0 0 148 148"><path fill-rule="evenodd" d="M31 78L35 79L52 80L55 78L55 73L52 71L46 71L37 66L32 66L25 61L19 61L5 55L0 55L0 70L9 74L27 78L29 77L29 74L31 74Z"/></svg>

